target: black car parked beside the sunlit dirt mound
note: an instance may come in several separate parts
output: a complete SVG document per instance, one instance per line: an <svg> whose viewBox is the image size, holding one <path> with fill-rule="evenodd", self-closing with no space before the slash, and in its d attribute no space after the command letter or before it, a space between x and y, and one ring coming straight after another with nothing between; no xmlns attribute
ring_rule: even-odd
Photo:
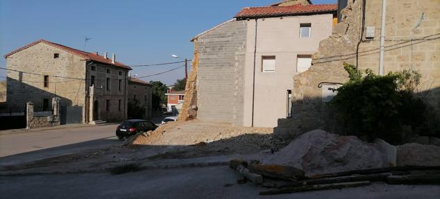
<svg viewBox="0 0 440 199"><path fill-rule="evenodd" d="M156 128L158 128L158 126L156 126L151 121L146 121L142 119L129 119L122 122L116 128L116 136L119 139L124 139L126 137L135 135L138 132L147 132L149 130L155 130Z"/></svg>

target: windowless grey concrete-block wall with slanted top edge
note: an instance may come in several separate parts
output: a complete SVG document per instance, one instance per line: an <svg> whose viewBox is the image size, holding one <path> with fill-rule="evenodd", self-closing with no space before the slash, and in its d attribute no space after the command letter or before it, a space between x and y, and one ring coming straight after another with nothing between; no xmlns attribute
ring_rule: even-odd
<svg viewBox="0 0 440 199"><path fill-rule="evenodd" d="M241 126L244 69L238 66L244 66L246 21L229 21L196 40L197 119Z"/></svg>

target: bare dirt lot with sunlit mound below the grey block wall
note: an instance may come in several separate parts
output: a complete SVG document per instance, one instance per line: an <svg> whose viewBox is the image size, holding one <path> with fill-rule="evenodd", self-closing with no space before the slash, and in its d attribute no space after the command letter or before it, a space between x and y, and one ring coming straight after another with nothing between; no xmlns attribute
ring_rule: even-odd
<svg viewBox="0 0 440 199"><path fill-rule="evenodd" d="M270 150L272 132L272 128L234 127L228 123L172 122L154 132L136 135L120 145L3 166L0 173L90 172L160 159L255 154Z"/></svg>

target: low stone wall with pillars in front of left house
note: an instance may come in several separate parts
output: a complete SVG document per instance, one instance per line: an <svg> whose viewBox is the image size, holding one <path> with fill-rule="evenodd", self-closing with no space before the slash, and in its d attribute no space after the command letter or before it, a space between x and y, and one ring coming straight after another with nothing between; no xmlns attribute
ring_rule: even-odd
<svg viewBox="0 0 440 199"><path fill-rule="evenodd" d="M26 103L26 128L44 128L60 126L60 103L58 98L52 99L53 114L35 115L33 103Z"/></svg>

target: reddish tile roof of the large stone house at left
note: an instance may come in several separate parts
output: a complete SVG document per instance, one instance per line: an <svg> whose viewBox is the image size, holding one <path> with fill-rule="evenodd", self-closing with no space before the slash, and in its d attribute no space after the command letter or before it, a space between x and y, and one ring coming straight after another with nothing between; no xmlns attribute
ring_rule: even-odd
<svg viewBox="0 0 440 199"><path fill-rule="evenodd" d="M58 49L67 51L67 52L72 53L74 55L78 55L81 58L84 58L86 60L93 60L93 61L96 61L96 62L101 62L101 63L104 63L104 64L110 64L110 65L114 65L115 67L121 67L121 68L124 68L124 69L131 70L131 68L126 66L125 64L123 64L121 62L112 63L111 59L105 59L102 55L96 55L96 53L89 53L89 52L85 52L85 51L80 51L78 49L72 49L71 47L63 46L61 44L56 44L56 43L53 43L53 42L48 42L46 40L38 40L36 42L32 42L31 44L27 44L26 46L23 46L23 47L15 50L15 51L11 51L10 53L6 54L4 57L8 58L8 56L10 56L10 55L12 55L14 53L17 53L19 51L22 51L24 49L27 49L27 48L35 45L35 44L39 44L40 42L44 43L44 44L48 44L48 45L53 46L53 47L56 47Z"/></svg>

